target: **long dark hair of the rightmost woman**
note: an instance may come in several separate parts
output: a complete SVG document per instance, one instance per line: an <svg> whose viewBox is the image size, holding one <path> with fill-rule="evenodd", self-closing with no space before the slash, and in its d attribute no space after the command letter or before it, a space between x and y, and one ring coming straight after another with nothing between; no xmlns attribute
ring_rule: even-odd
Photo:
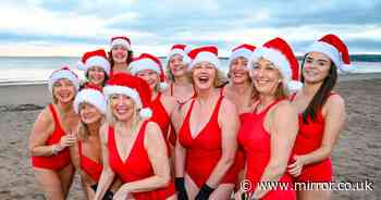
<svg viewBox="0 0 381 200"><path fill-rule="evenodd" d="M307 53L308 54L308 53ZM306 57L304 57L302 62L302 71L306 61ZM302 83L305 82L305 78L302 74ZM328 73L328 76L324 78L323 84L320 86L317 93L315 93L312 100L309 102L307 109L303 112L303 123L307 124L308 116L311 118L312 122L316 121L316 115L318 111L322 108L322 105L325 103L328 97L330 96L333 87L335 86L337 80L337 67L336 65L331 61L331 67Z"/></svg>

